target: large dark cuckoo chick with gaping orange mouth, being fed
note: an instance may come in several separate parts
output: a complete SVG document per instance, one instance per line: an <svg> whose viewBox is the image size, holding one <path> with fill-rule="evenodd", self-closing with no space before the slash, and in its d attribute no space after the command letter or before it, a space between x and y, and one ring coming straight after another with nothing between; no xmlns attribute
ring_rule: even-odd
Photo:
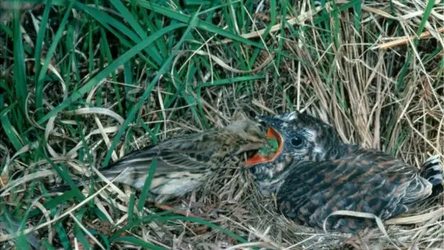
<svg viewBox="0 0 444 250"><path fill-rule="evenodd" d="M443 185L441 156L422 169L381 151L343 143L332 126L293 112L257 117L268 137L279 142L272 157L245 163L263 194L277 194L281 213L300 224L323 228L337 210L372 213L388 219L406 213ZM327 229L354 233L373 219L331 216Z"/></svg>

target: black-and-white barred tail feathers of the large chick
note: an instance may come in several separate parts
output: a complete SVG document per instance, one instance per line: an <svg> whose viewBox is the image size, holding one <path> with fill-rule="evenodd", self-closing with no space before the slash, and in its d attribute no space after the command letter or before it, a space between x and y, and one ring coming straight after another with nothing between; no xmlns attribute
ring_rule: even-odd
<svg viewBox="0 0 444 250"><path fill-rule="evenodd" d="M420 175L432 183L434 191L443 191L444 165L441 155L435 155L422 163Z"/></svg>

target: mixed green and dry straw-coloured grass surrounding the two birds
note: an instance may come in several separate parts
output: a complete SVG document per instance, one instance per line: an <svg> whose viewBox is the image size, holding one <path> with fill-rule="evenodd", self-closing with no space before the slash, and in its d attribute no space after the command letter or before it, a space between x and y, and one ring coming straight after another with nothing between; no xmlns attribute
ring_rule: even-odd
<svg viewBox="0 0 444 250"><path fill-rule="evenodd" d="M287 222L241 169L169 203L200 218L146 190L48 191L239 110L301 110L418 167L444 153L440 1L18 2L0 2L4 249L341 249L348 235ZM442 249L442 198L348 244Z"/></svg>

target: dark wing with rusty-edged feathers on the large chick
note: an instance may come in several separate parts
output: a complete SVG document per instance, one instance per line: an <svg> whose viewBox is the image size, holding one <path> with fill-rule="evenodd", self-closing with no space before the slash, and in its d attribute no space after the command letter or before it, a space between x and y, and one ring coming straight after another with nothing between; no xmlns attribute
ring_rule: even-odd
<svg viewBox="0 0 444 250"><path fill-rule="evenodd" d="M381 163L366 156L298 163L280 187L278 203L284 215L319 228L336 210L373 213L387 219L407 211L405 197L414 201L425 194L411 188L418 178L409 172L411 169L398 160ZM366 219L330 217L327 228L352 231L371 223Z"/></svg>

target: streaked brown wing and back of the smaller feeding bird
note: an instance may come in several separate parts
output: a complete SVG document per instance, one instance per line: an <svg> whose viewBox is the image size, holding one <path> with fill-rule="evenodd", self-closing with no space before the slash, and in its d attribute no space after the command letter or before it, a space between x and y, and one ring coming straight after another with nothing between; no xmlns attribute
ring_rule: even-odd
<svg viewBox="0 0 444 250"><path fill-rule="evenodd" d="M147 172L153 158L157 158L156 174L180 170L202 172L210 170L212 160L221 160L238 153L239 149L262 147L258 142L251 144L254 144L253 147L248 147L246 140L241 140L235 133L222 130L182 135L130 153L102 172L106 176L114 176L127 168L135 173Z"/></svg>

